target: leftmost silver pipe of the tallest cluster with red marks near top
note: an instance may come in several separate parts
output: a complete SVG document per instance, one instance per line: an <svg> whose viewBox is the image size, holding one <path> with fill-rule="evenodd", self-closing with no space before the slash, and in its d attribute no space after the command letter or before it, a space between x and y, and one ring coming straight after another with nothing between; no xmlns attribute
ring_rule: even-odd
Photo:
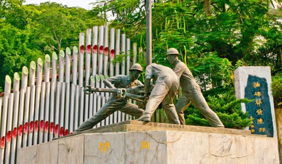
<svg viewBox="0 0 282 164"><path fill-rule="evenodd" d="M83 87L84 33L79 33L78 85Z"/></svg>

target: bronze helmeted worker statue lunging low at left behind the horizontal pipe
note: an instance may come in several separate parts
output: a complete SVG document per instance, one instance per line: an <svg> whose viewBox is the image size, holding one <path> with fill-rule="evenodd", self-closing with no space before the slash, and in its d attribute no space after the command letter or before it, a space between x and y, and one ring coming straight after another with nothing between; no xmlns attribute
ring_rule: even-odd
<svg viewBox="0 0 282 164"><path fill-rule="evenodd" d="M116 75L113 77L106 78L103 83L108 88L132 88L135 86L144 86L139 80L138 77L143 72L142 66L138 63L135 63L129 69L129 75ZM138 87L137 87L138 88ZM136 89L137 89L136 88ZM93 128L96 124L110 116L112 113L116 111L121 111L126 114L135 116L139 118L144 110L138 108L137 105L129 103L127 98L120 98L116 93L112 93L108 101L105 105L95 113L91 118L83 122L75 131L77 133L79 131L84 131L87 129Z"/></svg>

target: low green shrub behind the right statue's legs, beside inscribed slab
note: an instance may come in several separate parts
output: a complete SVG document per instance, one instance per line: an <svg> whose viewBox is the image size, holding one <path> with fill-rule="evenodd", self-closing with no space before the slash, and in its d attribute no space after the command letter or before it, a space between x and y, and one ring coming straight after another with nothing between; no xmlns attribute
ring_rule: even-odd
<svg viewBox="0 0 282 164"><path fill-rule="evenodd" d="M241 103L250 103L253 100L236 99L234 88L212 89L203 93L209 107L218 115L226 128L244 129L251 125L248 113L243 113ZM210 126L201 112L194 106L185 111L187 125Z"/></svg>

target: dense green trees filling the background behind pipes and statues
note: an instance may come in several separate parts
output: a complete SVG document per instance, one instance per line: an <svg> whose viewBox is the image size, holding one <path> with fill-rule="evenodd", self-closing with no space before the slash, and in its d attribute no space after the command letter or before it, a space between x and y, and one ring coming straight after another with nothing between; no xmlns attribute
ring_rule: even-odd
<svg viewBox="0 0 282 164"><path fill-rule="evenodd" d="M77 45L79 32L92 26L108 23L146 49L145 0L93 0L95 7L90 11L56 3L23 6L23 1L0 0L0 92L6 74L21 72L23 65L44 54ZM178 49L180 59L192 70L224 125L243 128L250 120L240 110L239 104L246 100L234 97L236 67L270 66L275 107L282 102L278 90L282 84L280 3L154 0L153 62L169 65L164 57L166 50ZM146 59L142 55L139 59L145 66ZM186 110L186 117L187 124L207 125L193 106Z"/></svg>

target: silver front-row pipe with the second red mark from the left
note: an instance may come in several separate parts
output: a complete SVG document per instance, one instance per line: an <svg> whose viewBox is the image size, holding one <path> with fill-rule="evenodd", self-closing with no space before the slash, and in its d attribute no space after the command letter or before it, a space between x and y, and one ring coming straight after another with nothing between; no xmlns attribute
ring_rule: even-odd
<svg viewBox="0 0 282 164"><path fill-rule="evenodd" d="M5 163L10 163L11 155L11 141L12 141L12 121L13 121L13 108L14 108L14 93L9 96L8 118L7 118L7 137L5 145Z"/></svg>

